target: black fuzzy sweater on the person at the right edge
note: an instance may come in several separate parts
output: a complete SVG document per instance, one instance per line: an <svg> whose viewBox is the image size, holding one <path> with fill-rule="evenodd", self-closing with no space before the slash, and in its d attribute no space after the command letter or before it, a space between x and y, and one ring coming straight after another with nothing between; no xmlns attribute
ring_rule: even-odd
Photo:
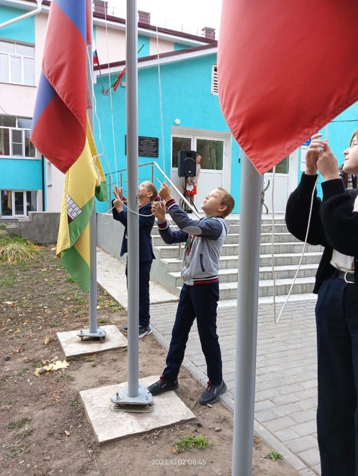
<svg viewBox="0 0 358 476"><path fill-rule="evenodd" d="M317 175L302 174L296 190L288 198L286 225L288 231L301 241L305 240L311 197ZM323 281L332 276L333 249L354 257L355 282L358 289L358 212L353 212L358 189L345 190L341 179L322 183L323 200L315 190L308 243L325 247L313 288L318 293Z"/></svg>

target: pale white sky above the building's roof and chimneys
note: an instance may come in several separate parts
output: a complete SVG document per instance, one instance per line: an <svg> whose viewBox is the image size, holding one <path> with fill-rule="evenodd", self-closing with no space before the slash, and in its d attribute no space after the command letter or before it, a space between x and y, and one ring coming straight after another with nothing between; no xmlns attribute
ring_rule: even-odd
<svg viewBox="0 0 358 476"><path fill-rule="evenodd" d="M201 35L204 26L218 38L222 0L137 0L137 10L149 11L151 25ZM108 14L126 16L126 0L108 0Z"/></svg>

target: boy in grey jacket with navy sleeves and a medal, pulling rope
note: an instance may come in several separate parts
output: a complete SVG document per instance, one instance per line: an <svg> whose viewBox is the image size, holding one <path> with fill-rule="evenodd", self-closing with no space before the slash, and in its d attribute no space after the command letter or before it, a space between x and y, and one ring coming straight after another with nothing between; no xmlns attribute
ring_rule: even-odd
<svg viewBox="0 0 358 476"><path fill-rule="evenodd" d="M166 202L168 212L180 228L171 230L165 218L164 203L152 205L152 213L158 219L163 240L168 243L185 242L181 264L183 286L180 292L177 316L167 356L167 367L160 380L148 387L153 396L179 387L178 375L184 358L189 331L196 317L201 349L207 365L208 382L200 396L202 405L214 403L225 392L222 379L222 361L219 338L216 334L216 308L219 300L219 258L230 225L224 219L234 208L234 198L226 190L218 188L210 192L201 204L205 217L192 220L172 197L167 184L159 195Z"/></svg>

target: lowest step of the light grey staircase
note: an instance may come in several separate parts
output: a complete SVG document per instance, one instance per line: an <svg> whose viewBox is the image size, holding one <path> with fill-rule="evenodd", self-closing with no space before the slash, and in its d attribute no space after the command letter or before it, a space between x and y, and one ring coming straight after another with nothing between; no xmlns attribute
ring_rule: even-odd
<svg viewBox="0 0 358 476"><path fill-rule="evenodd" d="M288 294L293 279L276 280L276 296ZM292 288L293 294L311 293L315 282L315 277L296 278ZM177 286L176 292L180 293L181 287ZM273 280L259 281L259 297L273 296ZM220 299L235 299L237 297L237 283L219 283Z"/></svg>

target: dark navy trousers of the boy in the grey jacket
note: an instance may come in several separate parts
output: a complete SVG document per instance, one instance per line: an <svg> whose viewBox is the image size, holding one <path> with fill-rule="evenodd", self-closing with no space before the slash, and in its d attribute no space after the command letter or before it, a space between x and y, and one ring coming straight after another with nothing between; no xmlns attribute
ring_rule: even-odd
<svg viewBox="0 0 358 476"><path fill-rule="evenodd" d="M177 316L167 356L166 379L175 381L184 358L186 342L196 317L200 344L206 360L209 380L222 382L222 362L219 338L216 334L216 308L219 300L219 283L187 286L180 292Z"/></svg>

